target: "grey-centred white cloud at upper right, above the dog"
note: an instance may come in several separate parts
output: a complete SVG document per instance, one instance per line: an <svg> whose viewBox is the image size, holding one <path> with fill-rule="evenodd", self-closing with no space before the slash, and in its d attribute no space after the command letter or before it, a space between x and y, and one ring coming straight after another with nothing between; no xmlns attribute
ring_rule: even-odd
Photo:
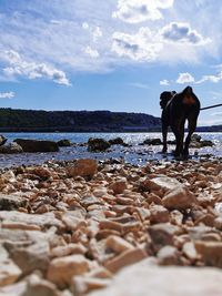
<svg viewBox="0 0 222 296"><path fill-rule="evenodd" d="M161 30L162 37L172 42L189 42L192 44L201 44L209 42L196 30L192 30L186 22L171 22Z"/></svg>

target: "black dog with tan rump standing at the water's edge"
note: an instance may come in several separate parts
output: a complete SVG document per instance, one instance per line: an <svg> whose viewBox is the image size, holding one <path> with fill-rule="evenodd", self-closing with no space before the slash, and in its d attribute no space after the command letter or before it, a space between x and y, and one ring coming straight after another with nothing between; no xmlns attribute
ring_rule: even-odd
<svg viewBox="0 0 222 296"><path fill-rule="evenodd" d="M160 105L162 108L162 135L163 135L163 150L168 151L167 137L168 127L170 126L175 135L175 156L188 156L191 136L196 127L198 115L200 113L200 101L193 93L191 86L186 86L182 92L162 92L160 95ZM184 139L184 125L188 120L189 133Z"/></svg>

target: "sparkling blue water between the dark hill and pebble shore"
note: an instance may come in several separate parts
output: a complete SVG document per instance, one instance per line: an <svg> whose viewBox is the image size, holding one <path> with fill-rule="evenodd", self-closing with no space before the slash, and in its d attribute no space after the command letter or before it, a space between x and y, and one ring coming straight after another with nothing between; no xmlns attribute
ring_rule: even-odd
<svg viewBox="0 0 222 296"><path fill-rule="evenodd" d="M148 146L139 145L145 139L160 137L161 133L4 133L8 142L14 139L32 139L32 140L52 140L59 141L61 139L68 139L73 145L71 147L61 147L57 153L22 153L22 154L0 154L0 167L17 166L21 164L41 164L49 160L73 160L73 159L124 159L125 162L132 164L144 164L148 160L161 160L163 155L161 146ZM211 154L214 156L222 156L222 133L200 133L202 140L210 140L214 143L213 147L203 147L200 150L190 149L191 155L204 155ZM89 137L102 137L111 140L114 137L122 137L123 141L132 146L122 147L119 145L112 146L105 153L90 153L87 151L87 146L80 146L81 143L87 143ZM174 140L172 133L169 133L169 140ZM169 145L169 151L174 149L173 145ZM172 159L169 154L168 159Z"/></svg>

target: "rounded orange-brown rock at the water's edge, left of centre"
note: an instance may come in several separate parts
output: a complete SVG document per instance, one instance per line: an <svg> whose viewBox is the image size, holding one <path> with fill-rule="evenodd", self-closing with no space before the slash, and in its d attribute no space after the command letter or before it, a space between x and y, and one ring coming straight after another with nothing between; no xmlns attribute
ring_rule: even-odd
<svg viewBox="0 0 222 296"><path fill-rule="evenodd" d="M72 166L68 167L69 176L92 177L98 171L95 160L78 160Z"/></svg>

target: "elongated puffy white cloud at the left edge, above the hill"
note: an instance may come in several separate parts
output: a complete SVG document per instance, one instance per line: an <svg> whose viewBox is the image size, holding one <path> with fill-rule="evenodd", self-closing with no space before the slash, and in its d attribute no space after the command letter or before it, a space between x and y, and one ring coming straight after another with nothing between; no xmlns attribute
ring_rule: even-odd
<svg viewBox="0 0 222 296"><path fill-rule="evenodd" d="M21 75L28 79L44 78L50 79L58 84L70 85L70 82L63 71L60 71L46 63L26 61L18 52L13 50L1 53L0 60L8 63L8 67L3 68L2 70L7 76Z"/></svg>

